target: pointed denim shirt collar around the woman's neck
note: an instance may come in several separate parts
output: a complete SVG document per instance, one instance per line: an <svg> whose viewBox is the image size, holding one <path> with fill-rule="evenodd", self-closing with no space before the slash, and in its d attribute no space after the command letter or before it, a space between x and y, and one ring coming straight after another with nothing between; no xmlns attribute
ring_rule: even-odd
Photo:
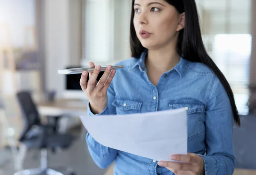
<svg viewBox="0 0 256 175"><path fill-rule="evenodd" d="M137 59L137 61L133 65L131 65L129 69L133 69L136 66L139 66L140 71L145 71L145 57L147 56L147 54L148 54L148 51L144 51L141 54L140 58ZM179 73L180 77L182 77L186 72L187 65L188 65L188 61L181 56L180 62L172 70L169 70L167 72L175 70L177 71L177 73Z"/></svg>

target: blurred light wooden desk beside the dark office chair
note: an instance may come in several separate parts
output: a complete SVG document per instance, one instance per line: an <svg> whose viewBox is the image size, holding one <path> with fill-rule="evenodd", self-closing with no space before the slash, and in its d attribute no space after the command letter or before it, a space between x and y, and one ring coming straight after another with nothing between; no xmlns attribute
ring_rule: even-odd
<svg viewBox="0 0 256 175"><path fill-rule="evenodd" d="M56 99L53 102L41 101L37 106L39 113L44 116L87 115L87 102L81 100Z"/></svg>

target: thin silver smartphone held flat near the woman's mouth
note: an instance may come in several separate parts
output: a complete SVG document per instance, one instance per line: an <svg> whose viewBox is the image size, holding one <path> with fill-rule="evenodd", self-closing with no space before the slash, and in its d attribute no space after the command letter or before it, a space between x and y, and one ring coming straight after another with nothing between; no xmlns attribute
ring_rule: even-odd
<svg viewBox="0 0 256 175"><path fill-rule="evenodd" d="M105 71L106 68L108 66L101 66L101 72ZM114 70L118 70L118 69L122 69L124 68L123 65L113 65ZM59 74L66 74L66 75L70 75L70 74L79 74L79 73L83 73L83 71L87 71L87 72L93 72L93 70L95 69L95 67L85 67L85 68L70 68L70 69L61 69L58 70Z"/></svg>

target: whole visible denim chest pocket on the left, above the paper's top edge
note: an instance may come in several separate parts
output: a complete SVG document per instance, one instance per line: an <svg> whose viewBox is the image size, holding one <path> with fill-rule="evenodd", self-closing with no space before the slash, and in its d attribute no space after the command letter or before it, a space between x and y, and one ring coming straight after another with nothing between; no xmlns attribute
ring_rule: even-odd
<svg viewBox="0 0 256 175"><path fill-rule="evenodd" d="M113 106L116 107L116 114L140 113L142 100L132 97L116 96Z"/></svg>

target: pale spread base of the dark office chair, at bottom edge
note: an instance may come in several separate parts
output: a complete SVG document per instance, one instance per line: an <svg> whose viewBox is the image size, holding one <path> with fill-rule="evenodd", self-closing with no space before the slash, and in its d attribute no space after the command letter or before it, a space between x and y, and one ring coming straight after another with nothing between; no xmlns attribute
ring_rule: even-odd
<svg viewBox="0 0 256 175"><path fill-rule="evenodd" d="M47 168L47 169L35 168L35 169L23 169L18 172L15 172L14 175L64 175L64 174L50 168Z"/></svg>

